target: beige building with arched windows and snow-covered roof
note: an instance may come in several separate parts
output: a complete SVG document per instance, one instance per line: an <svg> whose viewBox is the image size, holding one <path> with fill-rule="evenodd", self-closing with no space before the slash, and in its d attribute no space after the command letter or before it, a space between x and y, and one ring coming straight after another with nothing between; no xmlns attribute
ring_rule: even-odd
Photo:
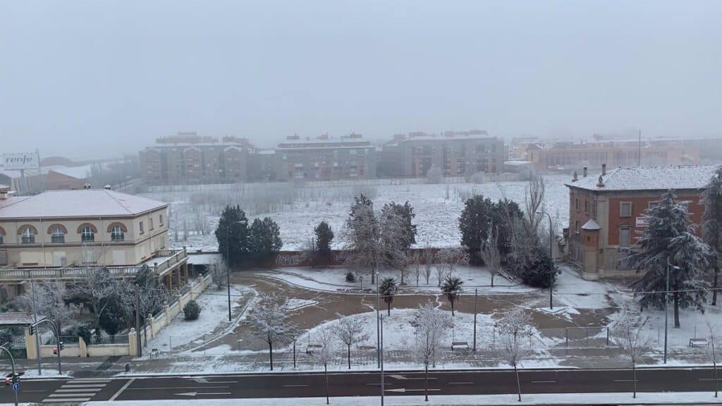
<svg viewBox="0 0 722 406"><path fill-rule="evenodd" d="M12 196L0 188L0 283L72 279L100 266L133 275L142 264L170 288L182 284L186 253L168 249L168 204L108 189Z"/></svg>

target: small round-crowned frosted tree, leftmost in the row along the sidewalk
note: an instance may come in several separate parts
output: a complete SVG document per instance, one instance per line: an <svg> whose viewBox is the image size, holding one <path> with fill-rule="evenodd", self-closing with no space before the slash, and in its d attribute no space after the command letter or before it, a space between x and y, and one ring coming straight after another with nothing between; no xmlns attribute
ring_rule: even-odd
<svg viewBox="0 0 722 406"><path fill-rule="evenodd" d="M288 302L274 294L261 295L258 304L253 308L253 313L248 316L248 323L251 324L253 333L269 346L271 371L273 371L274 346L292 342L297 334L297 329L290 319Z"/></svg>

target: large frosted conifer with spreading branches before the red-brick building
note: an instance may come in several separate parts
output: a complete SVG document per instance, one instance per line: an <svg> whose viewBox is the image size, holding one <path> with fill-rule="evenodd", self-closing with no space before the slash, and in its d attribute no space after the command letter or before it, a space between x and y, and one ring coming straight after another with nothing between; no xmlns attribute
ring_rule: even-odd
<svg viewBox="0 0 722 406"><path fill-rule="evenodd" d="M710 247L695 236L687 202L677 202L673 191L661 196L656 207L644 215L647 228L632 248L622 249L632 269L644 275L631 288L641 295L640 306L664 308L666 272L674 303L674 327L679 327L679 308L695 306L704 311L709 283L704 280Z"/></svg>

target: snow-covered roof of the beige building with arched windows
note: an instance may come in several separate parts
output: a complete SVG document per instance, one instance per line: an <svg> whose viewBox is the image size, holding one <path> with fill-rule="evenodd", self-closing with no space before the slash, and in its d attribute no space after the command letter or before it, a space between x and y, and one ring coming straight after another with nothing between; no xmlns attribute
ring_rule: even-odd
<svg viewBox="0 0 722 406"><path fill-rule="evenodd" d="M11 196L0 203L0 219L35 217L127 217L167 206L141 196L105 189L45 191Z"/></svg>

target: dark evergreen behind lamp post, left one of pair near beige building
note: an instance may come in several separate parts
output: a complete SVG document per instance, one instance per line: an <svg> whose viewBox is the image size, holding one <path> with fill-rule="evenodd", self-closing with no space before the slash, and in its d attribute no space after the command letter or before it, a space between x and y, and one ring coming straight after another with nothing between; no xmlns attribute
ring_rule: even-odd
<svg viewBox="0 0 722 406"><path fill-rule="evenodd" d="M239 206L226 206L218 220L218 251L229 268L238 267L248 257L248 218Z"/></svg>

